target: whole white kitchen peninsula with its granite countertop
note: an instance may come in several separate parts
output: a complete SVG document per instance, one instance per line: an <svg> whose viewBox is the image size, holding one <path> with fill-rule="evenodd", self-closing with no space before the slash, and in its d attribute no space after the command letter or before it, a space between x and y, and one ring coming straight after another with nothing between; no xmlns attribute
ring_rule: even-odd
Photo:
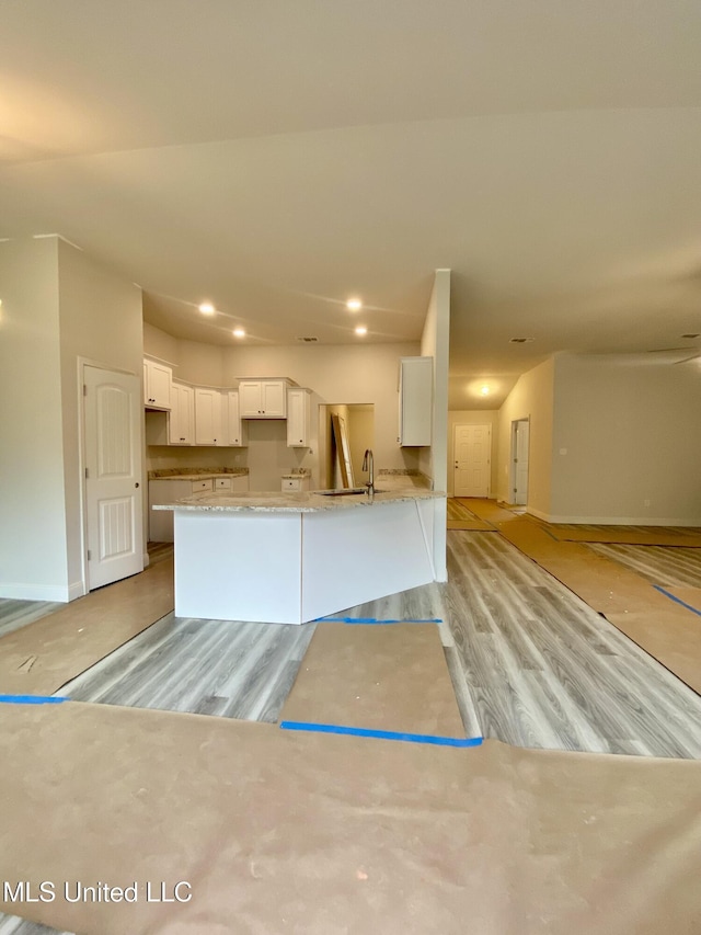
<svg viewBox="0 0 701 935"><path fill-rule="evenodd" d="M174 512L175 614L302 624L427 584L445 495L211 492L154 505Z"/></svg>

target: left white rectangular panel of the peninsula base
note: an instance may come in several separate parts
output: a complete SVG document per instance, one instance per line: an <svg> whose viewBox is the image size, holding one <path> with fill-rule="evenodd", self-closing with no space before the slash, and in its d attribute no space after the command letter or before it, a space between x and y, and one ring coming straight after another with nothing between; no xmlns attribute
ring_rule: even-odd
<svg viewBox="0 0 701 935"><path fill-rule="evenodd" d="M299 513L175 510L175 614L301 623Z"/></svg>

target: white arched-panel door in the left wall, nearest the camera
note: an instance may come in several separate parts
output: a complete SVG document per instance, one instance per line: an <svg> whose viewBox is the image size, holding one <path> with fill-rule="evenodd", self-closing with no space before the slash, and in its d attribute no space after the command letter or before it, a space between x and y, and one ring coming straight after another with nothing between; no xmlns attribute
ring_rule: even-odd
<svg viewBox="0 0 701 935"><path fill-rule="evenodd" d="M89 590L143 570L141 392L137 377L85 367Z"/></svg>

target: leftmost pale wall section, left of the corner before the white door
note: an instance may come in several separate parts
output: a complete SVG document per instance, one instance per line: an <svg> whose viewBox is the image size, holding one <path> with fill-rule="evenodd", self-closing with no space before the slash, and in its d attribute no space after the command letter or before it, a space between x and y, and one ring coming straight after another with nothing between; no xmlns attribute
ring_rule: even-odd
<svg viewBox="0 0 701 935"><path fill-rule="evenodd" d="M56 239L0 243L0 596L65 601Z"/></svg>

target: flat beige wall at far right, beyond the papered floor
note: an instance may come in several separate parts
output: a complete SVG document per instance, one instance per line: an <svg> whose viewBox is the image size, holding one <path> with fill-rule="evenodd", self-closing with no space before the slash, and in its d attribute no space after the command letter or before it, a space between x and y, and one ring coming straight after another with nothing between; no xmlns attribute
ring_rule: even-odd
<svg viewBox="0 0 701 935"><path fill-rule="evenodd" d="M701 525L697 364L560 354L554 373L553 521Z"/></svg>

